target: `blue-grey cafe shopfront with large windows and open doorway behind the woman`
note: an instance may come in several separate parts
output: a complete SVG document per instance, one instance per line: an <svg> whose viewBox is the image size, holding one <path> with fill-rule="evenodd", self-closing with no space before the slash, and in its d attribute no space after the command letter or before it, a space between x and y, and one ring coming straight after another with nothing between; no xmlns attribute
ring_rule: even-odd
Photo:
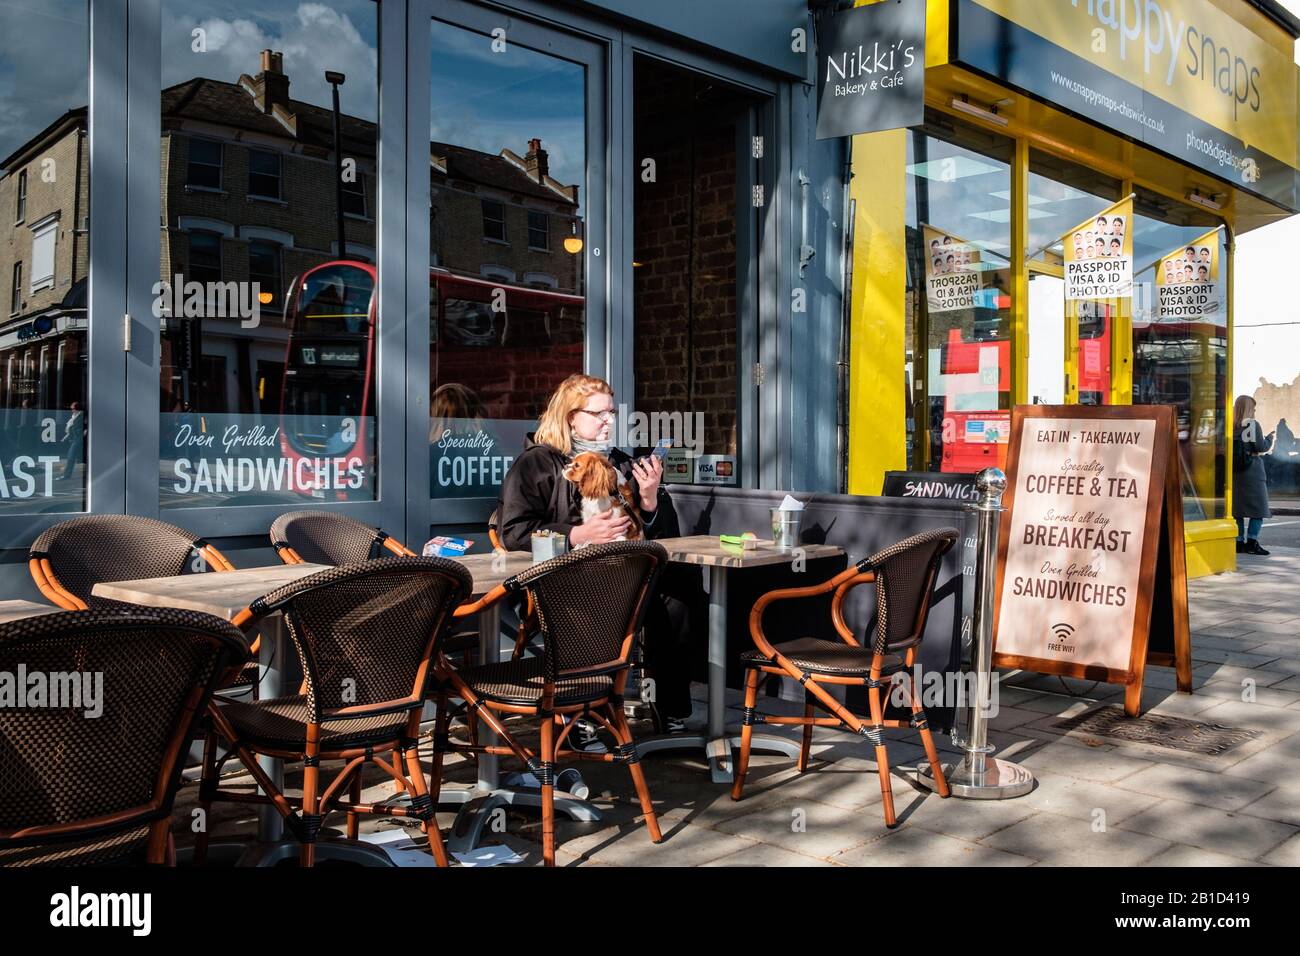
<svg viewBox="0 0 1300 956"><path fill-rule="evenodd" d="M86 511L237 564L295 507L481 532L576 371L701 412L738 486L837 489L845 156L803 3L0 10L6 594Z"/></svg>

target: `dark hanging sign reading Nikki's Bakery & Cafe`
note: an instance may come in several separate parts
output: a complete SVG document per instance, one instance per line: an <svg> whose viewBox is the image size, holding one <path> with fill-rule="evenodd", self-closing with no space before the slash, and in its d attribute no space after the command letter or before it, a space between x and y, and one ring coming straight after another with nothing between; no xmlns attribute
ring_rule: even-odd
<svg viewBox="0 0 1300 956"><path fill-rule="evenodd" d="M816 138L916 126L926 113L926 0L823 16Z"/></svg>

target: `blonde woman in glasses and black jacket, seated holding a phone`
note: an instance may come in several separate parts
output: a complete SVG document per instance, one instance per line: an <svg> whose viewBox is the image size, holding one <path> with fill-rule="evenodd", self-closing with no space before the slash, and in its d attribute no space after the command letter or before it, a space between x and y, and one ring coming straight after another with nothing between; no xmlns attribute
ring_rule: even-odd
<svg viewBox="0 0 1300 956"><path fill-rule="evenodd" d="M647 538L677 537L677 512L662 485L663 462L649 457L633 459L614 447L614 389L603 378L571 375L551 395L537 432L528 436L502 484L498 523L502 544L512 551L532 549L534 531L554 531L568 538L569 548L621 540L630 519L614 509L582 520L577 485L564 477L564 467L584 451L607 455L629 481L633 501L641 509ZM690 662L688 640L690 610L685 601L670 597L660 575L658 593L646 609L646 665L655 680L655 706L670 734L685 730L690 717ZM576 737L576 739L575 739ZM582 721L569 735L576 749L603 749L595 728Z"/></svg>

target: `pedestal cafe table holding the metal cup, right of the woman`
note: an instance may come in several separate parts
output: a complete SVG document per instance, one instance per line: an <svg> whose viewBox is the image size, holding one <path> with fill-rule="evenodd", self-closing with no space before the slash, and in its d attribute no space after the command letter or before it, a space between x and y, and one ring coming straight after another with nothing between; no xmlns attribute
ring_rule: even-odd
<svg viewBox="0 0 1300 956"><path fill-rule="evenodd" d="M796 557L805 561L833 558L844 554L832 545L800 545L797 551L779 551L771 541L742 550L723 545L716 535L662 537L655 540L668 551L668 559L682 564L702 564L708 575L708 728L706 735L677 734L649 737L637 743L641 756L660 750L702 748L708 760L714 783L729 783L733 777L732 747L740 739L727 734L727 578L728 571L770 564L789 564ZM754 752L784 753L798 757L800 745L783 737L755 734Z"/></svg>

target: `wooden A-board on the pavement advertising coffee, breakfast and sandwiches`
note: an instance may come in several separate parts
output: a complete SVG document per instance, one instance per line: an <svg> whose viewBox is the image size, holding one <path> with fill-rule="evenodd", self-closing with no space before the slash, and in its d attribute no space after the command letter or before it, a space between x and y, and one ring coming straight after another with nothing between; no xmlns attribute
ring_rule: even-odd
<svg viewBox="0 0 1300 956"><path fill-rule="evenodd" d="M1017 406L998 541L1000 667L1123 684L1148 663L1191 693L1173 406Z"/></svg>

